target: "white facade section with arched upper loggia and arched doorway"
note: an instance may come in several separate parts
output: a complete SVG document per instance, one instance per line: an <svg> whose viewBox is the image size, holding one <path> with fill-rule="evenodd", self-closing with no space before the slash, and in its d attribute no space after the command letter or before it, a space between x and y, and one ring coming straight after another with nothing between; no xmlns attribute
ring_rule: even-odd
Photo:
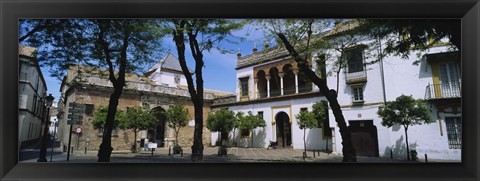
<svg viewBox="0 0 480 181"><path fill-rule="evenodd" d="M313 63L312 70L315 67ZM268 46L258 52L254 47L250 55L237 54L236 71L236 96L217 99L212 109L252 112L263 117L266 127L257 128L253 133L240 130L230 138L240 147L266 148L270 141L276 141L282 148L303 149L303 130L299 128L295 115L302 110L311 111L313 104L326 99L299 71L288 52L281 47ZM327 129L324 129L328 128L327 124L320 122L317 128L306 130L307 149L331 150L331 141L325 134ZM212 139L218 139L218 133L213 133Z"/></svg>

